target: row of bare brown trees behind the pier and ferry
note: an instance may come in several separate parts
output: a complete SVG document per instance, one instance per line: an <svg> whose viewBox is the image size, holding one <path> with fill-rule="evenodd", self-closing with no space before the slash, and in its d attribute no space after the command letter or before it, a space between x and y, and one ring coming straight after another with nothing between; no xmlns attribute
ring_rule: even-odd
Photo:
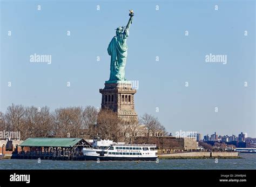
<svg viewBox="0 0 256 187"><path fill-rule="evenodd" d="M166 135L157 117L145 113L129 123L120 119L110 109L97 110L93 106L57 108L53 112L47 106L9 106L0 112L0 130L20 131L21 140L29 137L81 137L103 138L119 141L120 138L134 142L137 136Z"/></svg>

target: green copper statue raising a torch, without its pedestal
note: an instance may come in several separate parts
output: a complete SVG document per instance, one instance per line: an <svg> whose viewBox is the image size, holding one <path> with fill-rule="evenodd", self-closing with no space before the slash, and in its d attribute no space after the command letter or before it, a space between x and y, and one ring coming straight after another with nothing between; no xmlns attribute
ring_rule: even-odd
<svg viewBox="0 0 256 187"><path fill-rule="evenodd" d="M134 13L130 10L130 19L126 27L118 27L116 29L116 36L110 41L109 47L107 47L107 52L111 56L110 63L110 78L106 83L117 83L125 82L125 65L127 58L127 44L126 39L129 36L129 29L132 23L132 17Z"/></svg>

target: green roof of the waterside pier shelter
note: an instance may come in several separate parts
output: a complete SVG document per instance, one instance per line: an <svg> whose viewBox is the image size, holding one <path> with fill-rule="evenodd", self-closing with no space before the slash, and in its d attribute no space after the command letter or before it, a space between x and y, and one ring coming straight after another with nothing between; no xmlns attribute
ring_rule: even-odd
<svg viewBox="0 0 256 187"><path fill-rule="evenodd" d="M73 147L82 141L82 138L44 138L44 137L35 137L28 138L19 146L22 147ZM85 140L84 143L87 144Z"/></svg>

